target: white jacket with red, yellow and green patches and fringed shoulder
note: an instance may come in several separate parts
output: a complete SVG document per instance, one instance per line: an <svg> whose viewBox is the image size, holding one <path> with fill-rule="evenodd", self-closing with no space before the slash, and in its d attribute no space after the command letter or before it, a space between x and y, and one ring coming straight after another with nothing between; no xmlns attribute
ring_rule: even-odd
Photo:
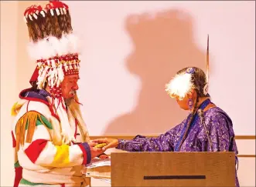
<svg viewBox="0 0 256 187"><path fill-rule="evenodd" d="M84 186L84 165L90 163L90 147L79 122L67 108L74 137L63 145L58 116L49 107L45 90L26 89L12 107L15 152L15 187L21 185Z"/></svg>

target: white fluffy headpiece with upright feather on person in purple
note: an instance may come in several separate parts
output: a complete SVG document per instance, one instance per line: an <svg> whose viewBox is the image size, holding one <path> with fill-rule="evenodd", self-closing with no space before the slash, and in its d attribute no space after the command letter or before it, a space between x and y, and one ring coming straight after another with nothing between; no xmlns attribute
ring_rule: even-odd
<svg viewBox="0 0 256 187"><path fill-rule="evenodd" d="M192 92L195 85L192 82L192 76L195 72L194 68L187 68L185 72L179 73L166 84L166 92L170 97L178 97L182 100L187 94ZM203 94L208 94L209 86L209 35L207 37L207 84L204 85Z"/></svg>

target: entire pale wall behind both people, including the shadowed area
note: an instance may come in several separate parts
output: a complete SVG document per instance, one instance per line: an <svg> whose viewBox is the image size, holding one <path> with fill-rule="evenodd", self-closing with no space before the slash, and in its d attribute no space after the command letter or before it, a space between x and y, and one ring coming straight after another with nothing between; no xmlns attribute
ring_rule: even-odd
<svg viewBox="0 0 256 187"><path fill-rule="evenodd" d="M206 35L210 32L212 68L210 92L213 99L231 114L237 135L255 135L255 30L253 30L255 20L250 17L254 15L255 9L251 8L254 5L249 5L249 2L240 2L240 4L233 2L230 6L227 6L227 2L221 5L208 5L205 2L197 5L192 2L173 2L173 4L172 2L146 2L147 5L143 2L140 4L124 2L125 5L121 5L121 2L67 3L73 13L71 16L74 30L81 36L81 42L84 45L79 94L81 101L86 103L83 106L83 112L90 134L125 135L125 132L130 132L129 135L135 135L137 130L142 134L152 134L144 128L132 127L132 125L138 126L135 120L138 118L141 120L142 127L149 124L148 129L152 129L156 134L169 129L169 124L180 122L186 113L179 111L176 103L162 92L162 86L175 72L174 69L170 69L172 67L180 68L179 66L187 65L186 62L193 60L190 63L195 62L196 65L204 68ZM29 59L26 52L29 37L22 18L22 13L30 5L30 1L1 1L1 186L13 184L10 109L18 99L19 92L29 87L29 78L35 68L34 62ZM176 8L171 8L174 5ZM160 14L155 21L147 22L143 21L142 16L137 16L143 21L139 22L141 25L138 28L134 28L134 25L129 25L127 22L129 15L162 12L166 9L164 7L178 10L179 19L173 18L174 13L171 11L171 18L166 18L167 21L160 18ZM182 12L189 12L186 15L188 17ZM244 19L237 18L237 12L241 12L240 15L244 16ZM207 16L211 17L203 19ZM183 24L179 22L186 18L190 21ZM222 23L221 20L223 20ZM136 18L134 22L137 22ZM234 25L240 25L243 29L239 30L238 26L234 27ZM161 27L166 30L167 34L161 32L159 29ZM234 32L230 32L232 29ZM168 33L172 33L173 36L168 38ZM239 38L239 35L243 37ZM159 38L162 44L159 45L157 40L153 40L154 37ZM176 43L165 42L166 37L168 42L175 41ZM149 40L148 44L145 42L147 40ZM154 45L155 48L154 46L150 48L148 45ZM161 46L172 50L158 51ZM243 48L245 50L242 50ZM173 50L176 54L172 54ZM148 52L152 53L148 54ZM177 60L180 64L166 66L160 64L162 68L158 69L157 65L147 63L167 63L170 60L169 54L172 54L171 60ZM182 57L182 61L179 61L179 57ZM241 62L243 62L242 66ZM230 65L233 65L233 68L230 68ZM171 75L168 75L169 71L164 71L164 68L170 69ZM158 70L155 72L155 69ZM148 74L147 71L150 73ZM237 75L239 79L236 80ZM225 77L230 85L224 81ZM222 82L224 85L221 84ZM234 93L236 83L239 84L239 88L247 90L247 96L243 99ZM249 92L248 89L251 91ZM148 95L156 96L148 98ZM148 106L148 103L154 105L155 109ZM244 105L248 105L247 108ZM247 110L241 111L240 107ZM159 113L156 114L155 112L158 111ZM247 116L247 121L243 122L243 115ZM163 125L155 125L156 123ZM119 128L124 124L130 125ZM254 140L238 140L237 145L241 155L254 155ZM253 166L255 158L240 158L239 160L238 176L241 186L255 186ZM94 185L99 186L100 183L94 180Z"/></svg>

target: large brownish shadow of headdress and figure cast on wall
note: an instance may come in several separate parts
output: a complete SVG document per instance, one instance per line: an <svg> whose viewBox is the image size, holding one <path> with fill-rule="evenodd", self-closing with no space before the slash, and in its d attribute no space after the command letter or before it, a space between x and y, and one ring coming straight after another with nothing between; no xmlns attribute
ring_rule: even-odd
<svg viewBox="0 0 256 187"><path fill-rule="evenodd" d="M187 112L169 98L165 85L181 68L193 65L205 69L206 51L201 52L193 40L192 18L179 10L159 12L155 17L128 16L126 29L134 45L127 68L139 76L142 88L135 109L108 124L104 135L166 132L182 122Z"/></svg>

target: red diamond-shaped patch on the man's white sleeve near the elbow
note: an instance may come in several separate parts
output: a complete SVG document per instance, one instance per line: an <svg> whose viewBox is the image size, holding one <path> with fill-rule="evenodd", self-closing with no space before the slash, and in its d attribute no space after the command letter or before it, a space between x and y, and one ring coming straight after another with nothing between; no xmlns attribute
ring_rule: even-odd
<svg viewBox="0 0 256 187"><path fill-rule="evenodd" d="M39 157L40 153L46 147L47 142L48 140L46 139L36 139L29 145L29 147L25 150L25 153L29 157L31 162L36 162L36 159Z"/></svg>

